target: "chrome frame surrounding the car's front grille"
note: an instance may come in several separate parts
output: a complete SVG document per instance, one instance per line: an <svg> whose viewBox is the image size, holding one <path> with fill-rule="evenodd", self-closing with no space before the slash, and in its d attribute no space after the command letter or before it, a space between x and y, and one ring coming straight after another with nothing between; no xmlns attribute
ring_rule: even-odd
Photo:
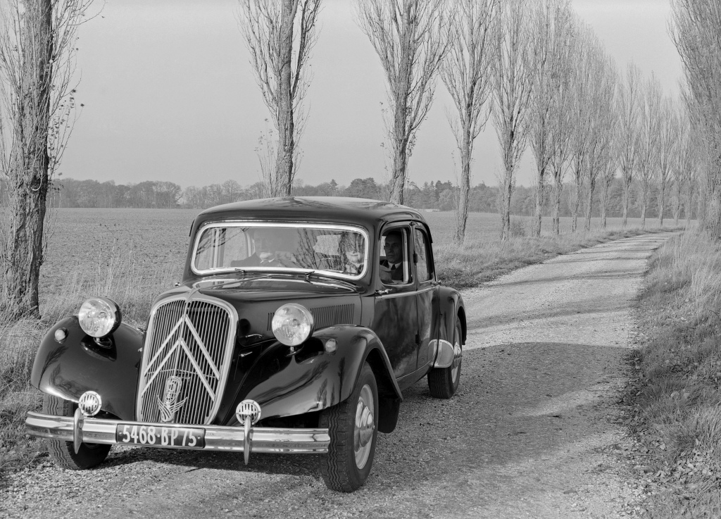
<svg viewBox="0 0 721 519"><path fill-rule="evenodd" d="M143 355L141 357L141 365L140 365L140 371L138 372L138 396L136 397L136 419L140 420L140 412L142 409L143 404L143 394L145 393L145 389L147 386L150 385L150 383L154 380L155 376L151 378L150 381L147 383L144 381L145 379L145 372L147 369L147 366L149 365L148 358L145 355L146 350L150 347L150 344L154 337L154 324L155 324L155 317L158 309L161 306L164 306L169 303L173 303L174 301L185 301L185 309L183 310L184 318L187 316L187 305L194 302L194 301L204 301L205 303L211 303L214 304L221 309L224 309L229 314L230 319L230 326L228 330L228 337L226 338L226 351L225 355L222 361L221 368L223 369L220 378L218 378L218 394L215 395L215 398L213 399L213 407L211 407L210 412L208 412L208 420L206 421L205 425L211 424L213 420L216 419L216 415L218 414L218 409L221 406L221 400L223 399L223 395L225 393L226 384L228 382L228 376L230 372L230 364L231 359L233 358L233 351L235 349L235 336L237 332L238 327L238 311L234 308L234 306L231 306L231 304L226 303L226 301L223 301L222 299L213 298L210 296L204 296L203 294L198 294L197 291L193 290L189 294L182 294L180 296L172 296L169 298L164 298L162 301L158 301L155 303L151 310L150 310L150 319L148 321L148 329L146 330L145 334L145 340L143 341ZM183 321L184 322L184 321ZM181 321L177 323L177 326L180 326ZM174 334L174 331L177 329L176 327L173 327L172 332L169 333L168 338L172 337L172 334ZM154 361L154 359L159 355L159 352L161 349L158 350L158 353L154 355L153 360L151 360L150 363Z"/></svg>

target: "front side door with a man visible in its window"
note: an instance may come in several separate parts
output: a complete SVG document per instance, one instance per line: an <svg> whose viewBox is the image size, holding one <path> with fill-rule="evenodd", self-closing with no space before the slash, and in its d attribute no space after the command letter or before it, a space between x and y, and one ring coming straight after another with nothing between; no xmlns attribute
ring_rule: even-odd
<svg viewBox="0 0 721 519"><path fill-rule="evenodd" d="M402 236L403 278L400 280L382 280L379 267L386 260L384 248L386 236L392 232L399 232ZM373 331L376 332L383 343L391 362L393 373L402 386L402 378L413 373L418 364L418 314L415 293L415 279L412 275L411 249L412 230L410 224L394 225L383 229L379 237L379 255L376 262L376 290L373 304ZM387 272L386 272L387 274Z"/></svg>

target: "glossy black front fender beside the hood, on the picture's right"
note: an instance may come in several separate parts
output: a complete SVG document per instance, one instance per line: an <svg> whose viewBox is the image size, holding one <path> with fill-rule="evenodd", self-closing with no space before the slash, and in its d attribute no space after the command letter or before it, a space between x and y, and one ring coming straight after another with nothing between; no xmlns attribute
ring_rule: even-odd
<svg viewBox="0 0 721 519"><path fill-rule="evenodd" d="M330 339L335 339L338 345L333 353L325 352L323 346ZM306 348L313 354L304 352ZM293 355L287 346L269 348L255 360L257 368L249 369L232 409L243 399L252 399L260 404L265 419L332 407L348 399L366 360L379 386L379 430L390 432L395 427L402 396L383 345L376 334L364 327L317 330ZM278 371L264 376L263 367L267 365L277 366Z"/></svg>

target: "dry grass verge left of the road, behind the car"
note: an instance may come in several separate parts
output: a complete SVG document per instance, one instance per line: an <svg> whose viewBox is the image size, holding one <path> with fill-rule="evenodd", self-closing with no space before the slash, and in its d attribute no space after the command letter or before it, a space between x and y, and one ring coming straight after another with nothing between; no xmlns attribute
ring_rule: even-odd
<svg viewBox="0 0 721 519"><path fill-rule="evenodd" d="M672 230L593 231L532 239L523 236L526 231L515 225L512 231L516 236L508 242L490 239L481 229L480 233L469 233L463 247L454 247L446 223L430 223L437 240L434 252L438 278L455 288L474 287L525 265L612 239ZM147 234L146 240L150 236ZM181 239L185 240L185 235ZM177 244L170 247L177 248ZM115 246L95 250L99 253L92 264L79 260L77 264L84 268L71 269L62 280L50 280L54 293L41 301L40 321L9 322L0 316L0 477L3 471L20 469L46 456L43 443L25 435L24 424L27 411L40 409L42 404L42 396L30 386L30 370L47 329L76 314L90 296L112 298L122 309L123 321L144 327L154 298L179 280L180 265L176 261L152 264L140 241L133 241L129 251Z"/></svg>

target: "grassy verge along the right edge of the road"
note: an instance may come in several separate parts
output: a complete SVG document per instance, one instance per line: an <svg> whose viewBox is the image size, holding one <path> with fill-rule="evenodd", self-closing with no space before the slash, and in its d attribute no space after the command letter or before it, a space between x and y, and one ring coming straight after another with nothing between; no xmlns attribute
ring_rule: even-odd
<svg viewBox="0 0 721 519"><path fill-rule="evenodd" d="M638 319L628 399L650 517L721 517L721 244L688 232L659 249Z"/></svg>

